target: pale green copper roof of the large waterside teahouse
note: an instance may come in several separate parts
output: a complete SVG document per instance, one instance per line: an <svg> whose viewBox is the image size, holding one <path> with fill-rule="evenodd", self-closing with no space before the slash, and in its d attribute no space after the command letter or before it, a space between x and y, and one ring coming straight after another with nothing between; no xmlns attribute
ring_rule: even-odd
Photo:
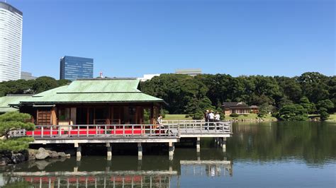
<svg viewBox="0 0 336 188"><path fill-rule="evenodd" d="M21 103L164 102L142 93L137 89L138 84L139 81L135 79L78 80L68 86L33 95L21 100Z"/></svg>

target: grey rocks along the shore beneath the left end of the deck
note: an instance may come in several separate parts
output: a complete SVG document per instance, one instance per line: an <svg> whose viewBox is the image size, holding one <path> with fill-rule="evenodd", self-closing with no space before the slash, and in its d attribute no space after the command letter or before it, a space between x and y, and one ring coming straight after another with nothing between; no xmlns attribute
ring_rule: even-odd
<svg viewBox="0 0 336 188"><path fill-rule="evenodd" d="M44 160L46 158L70 158L71 155L65 152L46 150L45 148L28 149L21 152L2 151L0 152L0 166L14 165L26 160Z"/></svg>

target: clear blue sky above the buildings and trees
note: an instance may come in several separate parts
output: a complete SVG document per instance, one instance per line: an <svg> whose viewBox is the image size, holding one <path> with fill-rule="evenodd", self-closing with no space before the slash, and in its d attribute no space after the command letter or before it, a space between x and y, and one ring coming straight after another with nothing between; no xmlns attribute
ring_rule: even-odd
<svg viewBox="0 0 336 188"><path fill-rule="evenodd" d="M60 57L94 76L335 75L333 0L8 0L23 11L22 70L59 78Z"/></svg>

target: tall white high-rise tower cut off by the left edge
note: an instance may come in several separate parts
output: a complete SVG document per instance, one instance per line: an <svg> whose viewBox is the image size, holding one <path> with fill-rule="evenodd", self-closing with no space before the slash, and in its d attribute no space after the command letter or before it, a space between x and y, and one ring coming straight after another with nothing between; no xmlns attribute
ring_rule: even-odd
<svg viewBox="0 0 336 188"><path fill-rule="evenodd" d="M0 1L0 82L21 78L22 16Z"/></svg>

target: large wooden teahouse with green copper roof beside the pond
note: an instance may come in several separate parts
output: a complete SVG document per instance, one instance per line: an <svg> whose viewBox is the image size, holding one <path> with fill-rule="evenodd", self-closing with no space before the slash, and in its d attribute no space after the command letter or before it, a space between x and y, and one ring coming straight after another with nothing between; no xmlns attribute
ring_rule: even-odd
<svg viewBox="0 0 336 188"><path fill-rule="evenodd" d="M138 86L135 78L82 79L10 105L36 125L153 124L164 100Z"/></svg>

